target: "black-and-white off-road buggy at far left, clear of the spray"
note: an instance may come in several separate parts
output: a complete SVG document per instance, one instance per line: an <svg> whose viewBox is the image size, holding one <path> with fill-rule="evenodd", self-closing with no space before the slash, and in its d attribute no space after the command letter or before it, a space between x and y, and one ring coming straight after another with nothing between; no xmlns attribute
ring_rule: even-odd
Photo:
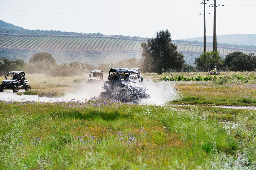
<svg viewBox="0 0 256 170"><path fill-rule="evenodd" d="M24 71L11 71L4 78L5 80L0 84L0 92L3 92L4 89L12 89L13 92L18 92L19 89L31 90Z"/></svg>

